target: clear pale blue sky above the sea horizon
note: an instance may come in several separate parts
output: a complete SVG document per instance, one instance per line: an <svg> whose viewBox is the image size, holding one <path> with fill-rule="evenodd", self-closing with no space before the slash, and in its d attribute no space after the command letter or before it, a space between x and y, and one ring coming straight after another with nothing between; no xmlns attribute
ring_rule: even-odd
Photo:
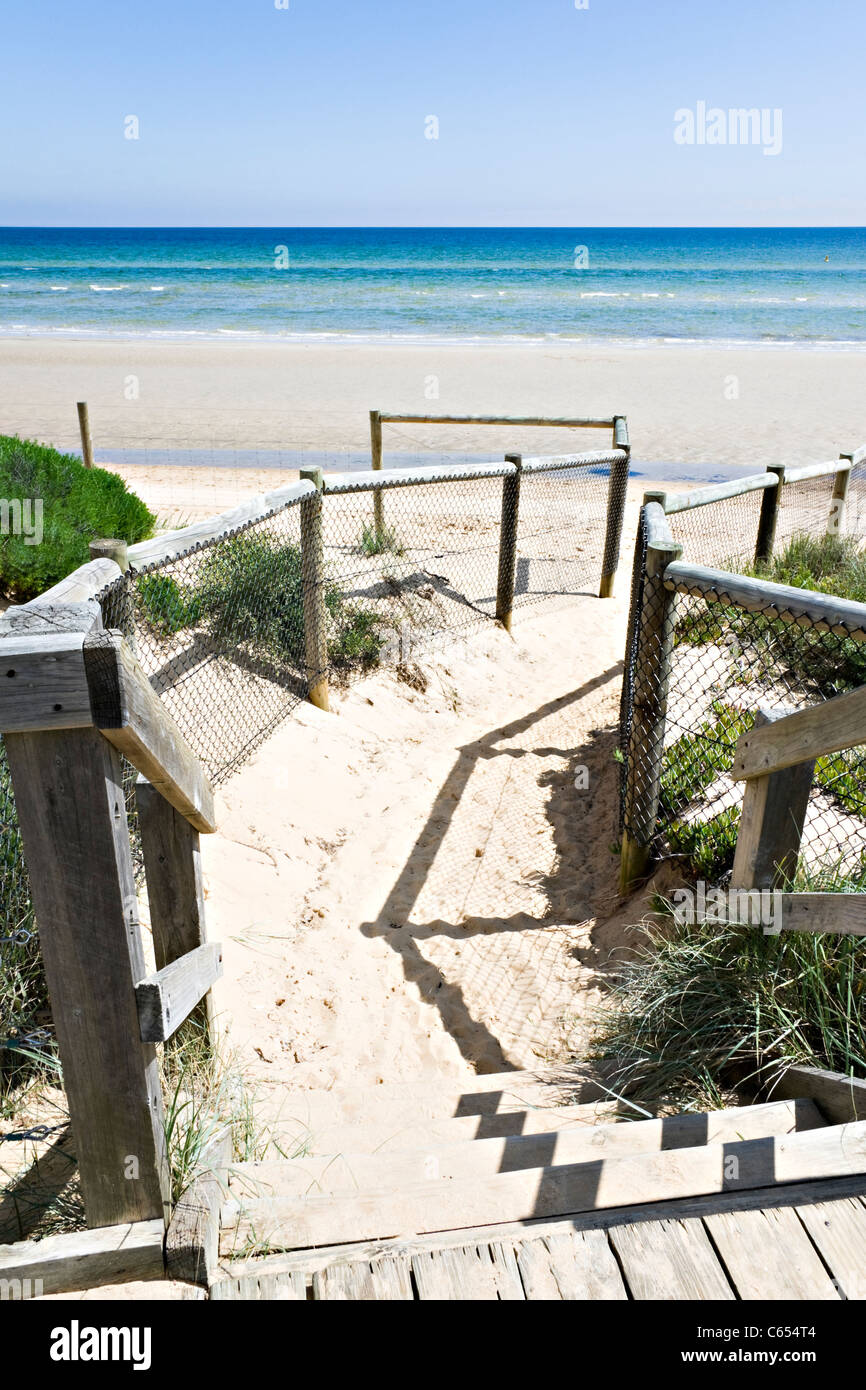
<svg viewBox="0 0 866 1390"><path fill-rule="evenodd" d="M8 4L0 224L866 224L865 0L282 3Z"/></svg>

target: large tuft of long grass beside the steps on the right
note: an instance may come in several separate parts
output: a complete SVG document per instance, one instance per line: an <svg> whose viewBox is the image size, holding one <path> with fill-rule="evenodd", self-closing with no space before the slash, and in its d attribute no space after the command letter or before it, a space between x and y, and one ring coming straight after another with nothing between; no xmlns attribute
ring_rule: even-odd
<svg viewBox="0 0 866 1390"><path fill-rule="evenodd" d="M717 1108L734 1081L794 1063L866 1077L866 938L673 917L644 933L592 1041L637 1104Z"/></svg>

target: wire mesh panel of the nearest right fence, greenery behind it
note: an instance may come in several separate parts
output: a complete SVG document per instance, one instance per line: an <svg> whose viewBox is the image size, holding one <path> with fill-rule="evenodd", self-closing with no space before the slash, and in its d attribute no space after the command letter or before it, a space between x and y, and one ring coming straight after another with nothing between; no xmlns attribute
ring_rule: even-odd
<svg viewBox="0 0 866 1390"><path fill-rule="evenodd" d="M641 562L644 563L644 562ZM731 575L735 585L735 577ZM744 787L738 738L759 710L792 712L866 684L866 623L835 630L802 607L744 606L648 575L632 603L623 699L623 830L680 855L709 883L730 876ZM816 763L801 844L808 885L866 876L866 746Z"/></svg>

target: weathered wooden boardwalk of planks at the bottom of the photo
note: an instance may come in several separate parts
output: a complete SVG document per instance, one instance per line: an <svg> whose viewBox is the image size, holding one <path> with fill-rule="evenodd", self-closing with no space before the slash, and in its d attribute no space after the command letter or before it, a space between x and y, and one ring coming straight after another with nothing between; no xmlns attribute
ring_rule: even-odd
<svg viewBox="0 0 866 1390"><path fill-rule="evenodd" d="M215 1300L862 1300L866 1177L231 1265Z"/></svg>

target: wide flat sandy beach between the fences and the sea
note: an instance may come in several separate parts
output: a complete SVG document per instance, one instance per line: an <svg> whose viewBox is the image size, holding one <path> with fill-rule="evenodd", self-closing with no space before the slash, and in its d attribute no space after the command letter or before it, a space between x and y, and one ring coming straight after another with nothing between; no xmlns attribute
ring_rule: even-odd
<svg viewBox="0 0 866 1390"><path fill-rule="evenodd" d="M157 449L366 449L368 411L628 416L635 459L805 463L866 428L856 350L0 339L0 428ZM129 378L135 378L131 381ZM125 392L136 391L135 399ZM438 393L436 393L438 392ZM560 431L392 427L385 453L556 452Z"/></svg>

